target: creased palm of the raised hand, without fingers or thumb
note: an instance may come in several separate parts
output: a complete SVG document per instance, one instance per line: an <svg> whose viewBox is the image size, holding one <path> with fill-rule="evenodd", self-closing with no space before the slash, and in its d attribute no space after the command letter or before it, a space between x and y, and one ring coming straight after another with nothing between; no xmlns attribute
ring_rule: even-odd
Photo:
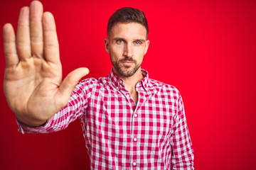
<svg viewBox="0 0 256 170"><path fill-rule="evenodd" d="M58 111L53 103L58 102L58 88L61 83L61 65L49 64L38 58L19 62L16 67L6 68L4 90L6 99L15 113L43 115ZM40 106L40 107L35 107ZM49 108L53 107L53 108ZM50 111L52 110L52 111Z"/></svg>

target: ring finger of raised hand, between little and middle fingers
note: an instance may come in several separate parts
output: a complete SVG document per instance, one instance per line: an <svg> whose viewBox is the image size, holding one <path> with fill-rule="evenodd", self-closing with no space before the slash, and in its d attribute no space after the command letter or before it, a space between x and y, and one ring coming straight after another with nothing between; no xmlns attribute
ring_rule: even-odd
<svg viewBox="0 0 256 170"><path fill-rule="evenodd" d="M31 57L31 44L29 36L29 8L27 6L21 8L21 13L18 17L16 45L18 57L21 61Z"/></svg>

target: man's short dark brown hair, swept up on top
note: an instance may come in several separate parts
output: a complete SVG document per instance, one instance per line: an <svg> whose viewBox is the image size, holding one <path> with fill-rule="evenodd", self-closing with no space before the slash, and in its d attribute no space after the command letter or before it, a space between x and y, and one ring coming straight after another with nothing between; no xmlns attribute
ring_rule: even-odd
<svg viewBox="0 0 256 170"><path fill-rule="evenodd" d="M146 16L144 12L139 9L124 7L115 11L107 23L107 36L110 35L111 29L116 23L140 23L146 28L146 37L149 34Z"/></svg>

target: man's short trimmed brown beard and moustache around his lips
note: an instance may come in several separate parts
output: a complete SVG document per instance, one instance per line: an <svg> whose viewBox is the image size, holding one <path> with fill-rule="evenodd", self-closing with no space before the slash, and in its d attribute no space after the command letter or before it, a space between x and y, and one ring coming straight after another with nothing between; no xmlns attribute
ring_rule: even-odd
<svg viewBox="0 0 256 170"><path fill-rule="evenodd" d="M122 62L124 61L134 62L134 64L132 66L122 66ZM112 62L112 65L122 77L132 77L139 67L141 67L142 63L137 63L137 61L133 60L132 57L125 57L117 62Z"/></svg>

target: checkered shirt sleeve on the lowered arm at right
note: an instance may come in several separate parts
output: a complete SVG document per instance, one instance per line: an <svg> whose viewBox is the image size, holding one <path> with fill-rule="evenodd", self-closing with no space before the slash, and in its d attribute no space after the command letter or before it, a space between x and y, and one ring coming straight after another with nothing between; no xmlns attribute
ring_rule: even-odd
<svg viewBox="0 0 256 170"><path fill-rule="evenodd" d="M171 130L171 169L194 169L193 146L188 132L181 95L178 93L178 110Z"/></svg>

